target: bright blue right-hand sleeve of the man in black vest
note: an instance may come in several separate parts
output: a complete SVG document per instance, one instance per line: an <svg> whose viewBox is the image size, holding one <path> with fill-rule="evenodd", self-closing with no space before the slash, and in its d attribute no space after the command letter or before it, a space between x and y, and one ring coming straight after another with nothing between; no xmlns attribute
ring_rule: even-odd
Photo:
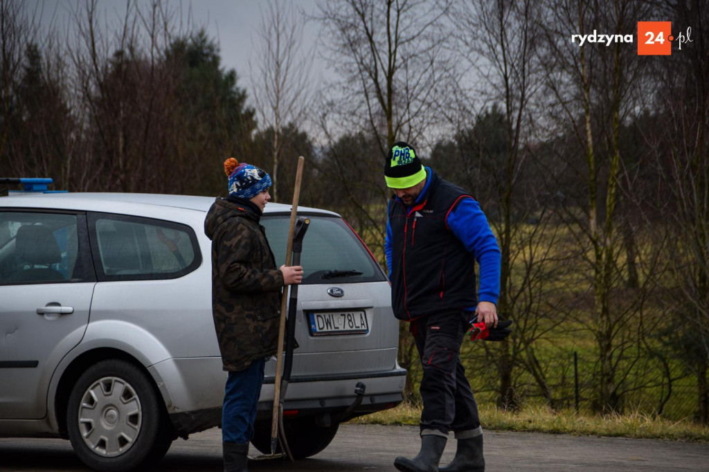
<svg viewBox="0 0 709 472"><path fill-rule="evenodd" d="M500 247L480 204L474 198L463 198L448 215L446 224L478 262L478 301L497 303L500 296Z"/></svg>

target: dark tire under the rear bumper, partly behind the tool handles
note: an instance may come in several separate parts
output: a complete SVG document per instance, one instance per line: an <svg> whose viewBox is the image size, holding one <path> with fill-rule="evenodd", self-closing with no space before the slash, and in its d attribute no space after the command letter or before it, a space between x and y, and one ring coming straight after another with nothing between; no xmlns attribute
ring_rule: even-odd
<svg viewBox="0 0 709 472"><path fill-rule="evenodd" d="M284 431L288 447L294 459L305 459L315 456L323 451L337 434L340 423L322 427L316 423L315 417L305 417L293 420L284 420ZM254 437L251 440L256 449L262 454L271 454L271 422L257 422L254 428ZM277 452L281 452L280 444Z"/></svg>

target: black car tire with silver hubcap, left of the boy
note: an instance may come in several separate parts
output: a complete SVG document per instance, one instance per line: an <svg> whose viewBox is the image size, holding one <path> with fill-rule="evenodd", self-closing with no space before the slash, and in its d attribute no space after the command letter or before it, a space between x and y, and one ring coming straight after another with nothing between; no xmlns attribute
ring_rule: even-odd
<svg viewBox="0 0 709 472"><path fill-rule="evenodd" d="M118 359L100 361L79 377L69 395L67 431L79 459L101 472L149 466L174 439L150 378Z"/></svg>

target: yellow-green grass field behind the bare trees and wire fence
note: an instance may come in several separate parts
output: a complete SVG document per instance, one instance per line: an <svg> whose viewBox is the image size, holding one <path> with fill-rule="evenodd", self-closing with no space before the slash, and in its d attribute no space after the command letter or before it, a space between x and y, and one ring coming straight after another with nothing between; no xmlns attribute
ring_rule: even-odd
<svg viewBox="0 0 709 472"><path fill-rule="evenodd" d="M374 238L373 231L364 233L365 241L383 264L381 241ZM513 300L508 317L514 324L507 351L495 345L498 343L464 341L462 346L461 359L481 405L501 404L501 359L506 355L512 366L513 395L523 411L549 406L549 411L564 417L565 411L576 411L577 391L581 415L591 419L601 410L598 398L603 349L598 336L604 328L595 309L589 262L593 254L571 233L565 223L549 221L541 227L516 227L510 247L508 287ZM653 256L666 257L665 252L655 247L648 235L635 237L640 286L626 285L627 254L615 241L615 279L608 293L613 323L613 383L620 398L617 411L624 414L622 417L634 417L638 424L655 417L669 421L667 425L691 423L700 412L701 352L697 352L701 344L691 337L691 329L682 318L687 303L681 300L681 291L670 290L675 283L670 273L664 271L658 276ZM400 349L400 362L409 370L407 400L415 402L419 400L420 364L415 351L413 359L402 359L406 345ZM709 379L705 379L707 382ZM583 430L582 425L578 428Z"/></svg>

